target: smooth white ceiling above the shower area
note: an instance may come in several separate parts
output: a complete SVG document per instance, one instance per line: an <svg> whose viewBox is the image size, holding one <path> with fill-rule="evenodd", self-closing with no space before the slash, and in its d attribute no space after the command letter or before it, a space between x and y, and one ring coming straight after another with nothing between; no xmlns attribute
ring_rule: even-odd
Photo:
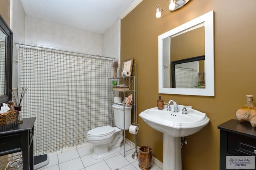
<svg viewBox="0 0 256 170"><path fill-rule="evenodd" d="M27 15L104 33L142 0L21 0ZM130 11L129 11L130 10Z"/></svg>

